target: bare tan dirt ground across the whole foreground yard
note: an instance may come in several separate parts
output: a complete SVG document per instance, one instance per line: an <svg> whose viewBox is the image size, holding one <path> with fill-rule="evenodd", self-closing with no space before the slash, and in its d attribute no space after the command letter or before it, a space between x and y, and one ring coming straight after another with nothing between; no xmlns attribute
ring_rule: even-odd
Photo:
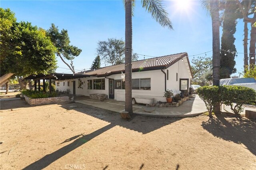
<svg viewBox="0 0 256 170"><path fill-rule="evenodd" d="M10 109L13 109L12 111ZM256 122L136 116L79 103L2 101L0 169L252 170Z"/></svg>

